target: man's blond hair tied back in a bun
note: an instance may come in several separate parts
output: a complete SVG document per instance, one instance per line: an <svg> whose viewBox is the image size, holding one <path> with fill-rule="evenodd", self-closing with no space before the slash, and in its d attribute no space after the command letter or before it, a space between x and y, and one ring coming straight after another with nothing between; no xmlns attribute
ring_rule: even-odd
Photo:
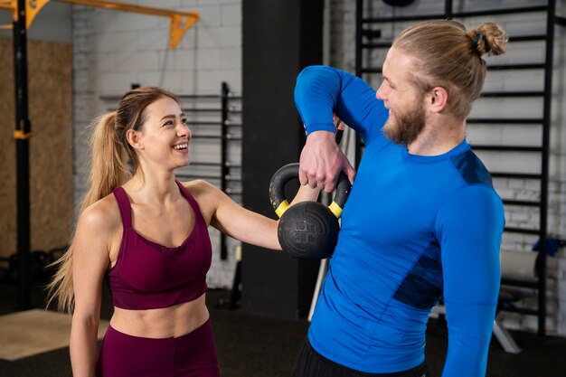
<svg viewBox="0 0 566 377"><path fill-rule="evenodd" d="M399 34L391 47L417 58L413 80L423 92L436 86L448 91L448 110L467 117L486 80L483 55L505 53L508 38L494 23L467 30L458 21L426 21Z"/></svg>

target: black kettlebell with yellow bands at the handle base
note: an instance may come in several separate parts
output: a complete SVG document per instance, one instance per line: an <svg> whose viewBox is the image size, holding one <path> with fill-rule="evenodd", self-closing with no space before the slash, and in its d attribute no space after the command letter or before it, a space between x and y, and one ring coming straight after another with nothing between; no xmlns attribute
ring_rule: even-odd
<svg viewBox="0 0 566 377"><path fill-rule="evenodd" d="M352 185L341 173L334 201L329 205L300 202L289 206L285 185L298 178L298 164L288 164L273 174L269 183L269 200L277 213L278 240L281 248L294 258L326 259L332 256L338 240L338 219Z"/></svg>

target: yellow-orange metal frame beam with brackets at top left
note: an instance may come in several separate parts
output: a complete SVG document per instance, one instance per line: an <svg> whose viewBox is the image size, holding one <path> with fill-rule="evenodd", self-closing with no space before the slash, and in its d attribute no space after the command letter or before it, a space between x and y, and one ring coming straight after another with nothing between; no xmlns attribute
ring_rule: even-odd
<svg viewBox="0 0 566 377"><path fill-rule="evenodd" d="M175 49L177 44L183 39L184 33L187 32L200 18L198 12L181 12L168 9L153 8L142 5L129 5L123 3L115 3L101 0L53 0L60 3L70 3L94 6L113 11L132 12L139 14L160 15L168 17L169 26L169 47ZM50 0L26 0L25 2L25 29L29 29L33 23L33 19L42 10L42 7L49 3ZM0 9L12 11L14 21L18 20L17 1L16 0L0 0ZM11 29L12 25L0 25L1 29Z"/></svg>

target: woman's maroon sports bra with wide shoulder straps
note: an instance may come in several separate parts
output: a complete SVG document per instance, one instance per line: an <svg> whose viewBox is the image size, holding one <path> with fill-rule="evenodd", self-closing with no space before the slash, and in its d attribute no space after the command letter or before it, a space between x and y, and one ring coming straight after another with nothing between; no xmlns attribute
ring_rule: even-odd
<svg viewBox="0 0 566 377"><path fill-rule="evenodd" d="M212 246L203 214L193 196L177 181L194 213L193 231L175 248L146 240L132 228L126 191L114 190L124 232L116 264L107 272L112 303L132 310L174 306L201 297L207 290Z"/></svg>

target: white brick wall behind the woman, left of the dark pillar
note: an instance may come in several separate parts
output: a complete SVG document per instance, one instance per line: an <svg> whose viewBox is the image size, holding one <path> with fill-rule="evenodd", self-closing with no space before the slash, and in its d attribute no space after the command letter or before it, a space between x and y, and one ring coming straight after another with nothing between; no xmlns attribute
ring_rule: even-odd
<svg viewBox="0 0 566 377"><path fill-rule="evenodd" d="M219 94L222 81L241 93L240 0L121 1L198 11L201 19L170 50L167 18L73 5L75 203L86 189L87 175L81 168L88 161L86 126L108 110L100 96L120 95L132 83L161 86L176 94ZM218 155L216 149L199 153L203 159ZM229 258L222 261L218 232L211 230L211 238L209 286L231 287L238 242L228 240Z"/></svg>

